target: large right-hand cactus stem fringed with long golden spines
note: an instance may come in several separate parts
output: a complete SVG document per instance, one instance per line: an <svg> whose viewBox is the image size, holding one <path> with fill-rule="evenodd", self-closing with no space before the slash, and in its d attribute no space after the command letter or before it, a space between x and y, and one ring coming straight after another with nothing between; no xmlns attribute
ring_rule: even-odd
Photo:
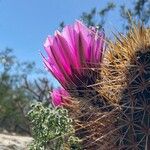
<svg viewBox="0 0 150 150"><path fill-rule="evenodd" d="M120 109L117 149L150 149L150 29L134 26L109 43L100 93Z"/></svg>

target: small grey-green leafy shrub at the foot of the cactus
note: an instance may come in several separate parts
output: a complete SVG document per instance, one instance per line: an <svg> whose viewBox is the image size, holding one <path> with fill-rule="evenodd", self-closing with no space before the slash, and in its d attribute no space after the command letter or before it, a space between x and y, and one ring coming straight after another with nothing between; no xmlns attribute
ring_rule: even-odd
<svg viewBox="0 0 150 150"><path fill-rule="evenodd" d="M64 108L44 107L42 103L32 106L28 117L32 124L34 141L30 150L79 149L79 139L68 111Z"/></svg>

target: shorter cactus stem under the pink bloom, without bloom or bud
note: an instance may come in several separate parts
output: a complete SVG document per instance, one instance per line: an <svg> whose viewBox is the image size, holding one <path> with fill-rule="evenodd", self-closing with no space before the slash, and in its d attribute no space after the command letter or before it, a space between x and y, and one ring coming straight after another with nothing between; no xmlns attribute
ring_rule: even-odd
<svg viewBox="0 0 150 150"><path fill-rule="evenodd" d="M112 150L116 146L114 142L117 134L110 131L115 130L117 119L114 119L114 116L117 110L112 111L113 107L99 94L98 89L92 86L97 79L100 79L100 74L97 72L91 70L88 78L83 77L77 89L68 90L74 101L78 103L76 109L70 109L70 115L74 119L75 134L82 140L82 149Z"/></svg>

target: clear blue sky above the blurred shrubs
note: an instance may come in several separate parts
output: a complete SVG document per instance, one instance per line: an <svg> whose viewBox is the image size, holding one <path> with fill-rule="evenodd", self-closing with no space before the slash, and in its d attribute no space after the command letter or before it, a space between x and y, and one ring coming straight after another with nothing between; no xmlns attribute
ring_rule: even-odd
<svg viewBox="0 0 150 150"><path fill-rule="evenodd" d="M114 0L117 4L123 0ZM71 24L82 12L93 7L103 8L108 0L1 0L0 49L13 48L20 60L35 61L44 69L39 50L48 34L53 35L59 23ZM120 28L120 18L115 11L107 16L107 33Z"/></svg>

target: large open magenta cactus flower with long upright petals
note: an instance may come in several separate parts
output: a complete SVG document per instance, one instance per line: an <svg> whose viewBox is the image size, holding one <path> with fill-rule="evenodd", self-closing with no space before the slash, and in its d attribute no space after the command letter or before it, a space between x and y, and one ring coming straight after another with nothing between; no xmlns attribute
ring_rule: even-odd
<svg viewBox="0 0 150 150"><path fill-rule="evenodd" d="M46 39L44 64L65 89L87 84L89 70L100 65L104 37L103 32L76 21Z"/></svg>

